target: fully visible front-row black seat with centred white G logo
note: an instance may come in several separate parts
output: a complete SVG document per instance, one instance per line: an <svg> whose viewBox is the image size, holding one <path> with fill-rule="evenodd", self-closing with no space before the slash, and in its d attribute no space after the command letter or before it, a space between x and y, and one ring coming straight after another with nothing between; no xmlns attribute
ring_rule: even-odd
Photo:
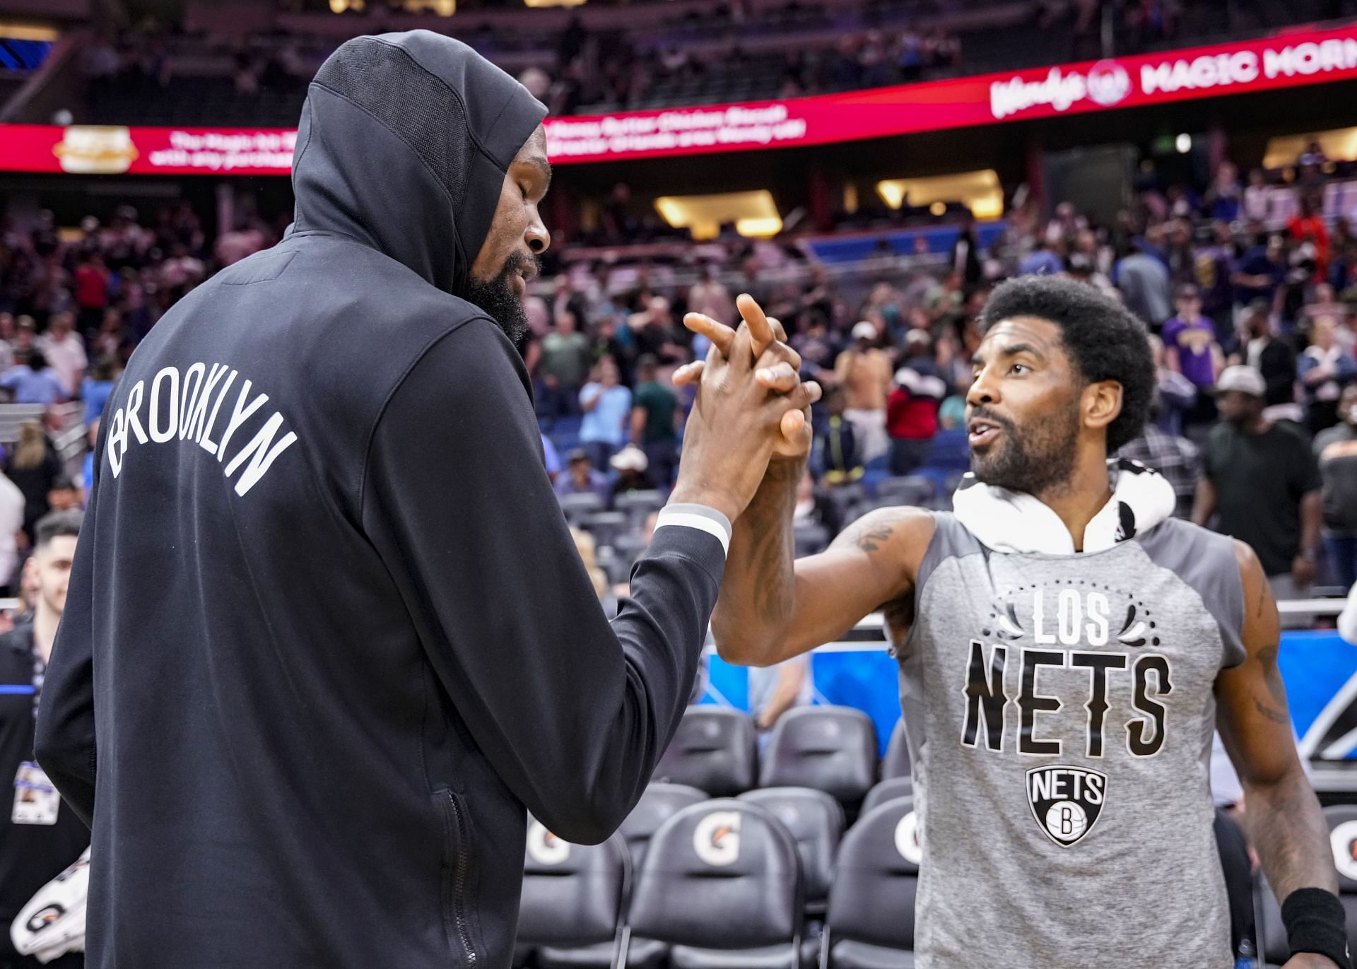
<svg viewBox="0 0 1357 969"><path fill-rule="evenodd" d="M805 890L797 841L746 801L693 805L655 832L636 878L630 924L670 943L673 969L798 969Z"/></svg>

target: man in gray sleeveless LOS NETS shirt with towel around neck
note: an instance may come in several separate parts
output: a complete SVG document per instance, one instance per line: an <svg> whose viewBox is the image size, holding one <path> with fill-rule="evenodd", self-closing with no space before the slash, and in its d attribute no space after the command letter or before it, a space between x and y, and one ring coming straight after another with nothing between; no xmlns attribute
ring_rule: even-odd
<svg viewBox="0 0 1357 969"><path fill-rule="evenodd" d="M1053 277L999 286L981 322L955 513L882 509L794 562L805 457L775 460L734 525L721 654L782 662L885 612L924 852L920 969L1229 969L1216 727L1284 902L1286 969L1348 966L1258 559L1171 517L1158 474L1107 460L1145 421L1144 328Z"/></svg>

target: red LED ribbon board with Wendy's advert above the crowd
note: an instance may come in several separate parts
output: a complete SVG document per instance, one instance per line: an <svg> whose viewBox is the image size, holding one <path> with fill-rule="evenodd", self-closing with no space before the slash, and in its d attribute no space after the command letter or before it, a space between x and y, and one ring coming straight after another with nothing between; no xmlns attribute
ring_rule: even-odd
<svg viewBox="0 0 1357 969"><path fill-rule="evenodd" d="M749 104L548 118L554 164L822 145L1357 77L1357 24ZM0 171L286 175L294 130L0 125Z"/></svg>

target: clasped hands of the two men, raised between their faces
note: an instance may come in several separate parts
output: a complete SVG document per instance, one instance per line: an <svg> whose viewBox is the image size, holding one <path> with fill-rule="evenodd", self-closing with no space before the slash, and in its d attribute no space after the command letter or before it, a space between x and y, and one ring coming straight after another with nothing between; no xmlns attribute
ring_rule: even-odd
<svg viewBox="0 0 1357 969"><path fill-rule="evenodd" d="M712 352L702 365L674 375L676 383L697 384L697 400L670 497L707 505L731 521L753 499L775 452L809 449L807 415L820 399L820 385L801 383L801 358L776 341L757 304L742 296L738 305L745 318L738 330L692 314L685 320L711 338ZM695 326L695 319L702 322Z"/></svg>

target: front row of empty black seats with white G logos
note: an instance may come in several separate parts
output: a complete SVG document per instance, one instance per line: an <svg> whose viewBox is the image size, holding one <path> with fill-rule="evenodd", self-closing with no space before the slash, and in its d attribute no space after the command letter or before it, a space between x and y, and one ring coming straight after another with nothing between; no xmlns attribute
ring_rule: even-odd
<svg viewBox="0 0 1357 969"><path fill-rule="evenodd" d="M662 813L655 803L684 797L668 784L651 791L651 808L638 805L647 820ZM518 961L541 969L912 966L920 852L911 798L859 820L830 867L841 831L843 812L824 793L776 788L688 803L647 839L635 837L639 828L628 837L624 826L601 846L567 844L532 822ZM806 917L816 894L820 912L828 904L818 938L807 931L818 923Z"/></svg>

